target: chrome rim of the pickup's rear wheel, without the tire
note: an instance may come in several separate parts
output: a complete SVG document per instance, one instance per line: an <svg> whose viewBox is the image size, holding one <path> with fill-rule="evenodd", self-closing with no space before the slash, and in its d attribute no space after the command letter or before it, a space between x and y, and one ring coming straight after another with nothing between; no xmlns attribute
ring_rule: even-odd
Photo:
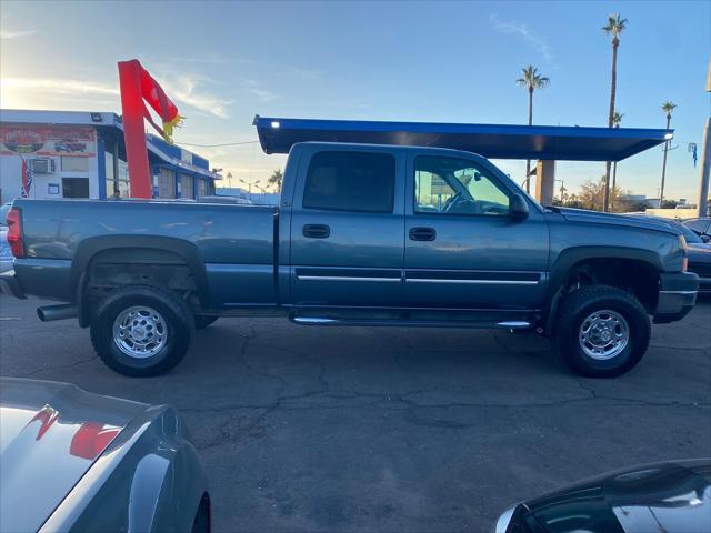
<svg viewBox="0 0 711 533"><path fill-rule="evenodd" d="M160 352L167 341L166 319L152 308L128 308L113 321L113 342L130 358L151 358Z"/></svg>

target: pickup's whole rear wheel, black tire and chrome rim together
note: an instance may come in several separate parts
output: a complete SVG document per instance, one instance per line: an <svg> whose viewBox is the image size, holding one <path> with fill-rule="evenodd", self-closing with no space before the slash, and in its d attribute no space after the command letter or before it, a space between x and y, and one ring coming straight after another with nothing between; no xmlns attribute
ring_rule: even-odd
<svg viewBox="0 0 711 533"><path fill-rule="evenodd" d="M168 372L188 352L194 322L171 291L131 285L101 302L91 321L91 343L107 366L123 375Z"/></svg>

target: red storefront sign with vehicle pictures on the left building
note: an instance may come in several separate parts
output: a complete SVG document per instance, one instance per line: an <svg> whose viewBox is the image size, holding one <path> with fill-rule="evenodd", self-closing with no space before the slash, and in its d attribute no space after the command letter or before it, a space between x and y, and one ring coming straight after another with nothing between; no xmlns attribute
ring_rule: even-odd
<svg viewBox="0 0 711 533"><path fill-rule="evenodd" d="M96 132L83 125L0 125L0 154L72 155L97 154Z"/></svg>

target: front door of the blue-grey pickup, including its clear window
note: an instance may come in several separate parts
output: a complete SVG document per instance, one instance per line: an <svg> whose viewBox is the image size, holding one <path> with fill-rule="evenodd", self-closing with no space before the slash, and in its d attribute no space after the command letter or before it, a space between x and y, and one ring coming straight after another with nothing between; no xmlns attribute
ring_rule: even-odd
<svg viewBox="0 0 711 533"><path fill-rule="evenodd" d="M410 151L404 301L415 306L532 309L547 281L549 233L532 202L488 161Z"/></svg>

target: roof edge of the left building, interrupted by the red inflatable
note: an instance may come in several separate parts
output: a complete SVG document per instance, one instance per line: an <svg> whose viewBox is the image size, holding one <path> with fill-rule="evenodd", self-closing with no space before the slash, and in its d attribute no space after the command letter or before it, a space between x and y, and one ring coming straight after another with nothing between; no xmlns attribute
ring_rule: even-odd
<svg viewBox="0 0 711 533"><path fill-rule="evenodd" d="M13 124L93 125L100 129L114 130L114 138L121 144L123 143L123 122L121 117L111 112L0 109L0 122ZM207 159L184 148L170 144L157 135L147 135L147 148L159 165L166 164L177 168L178 171L200 174L213 180L221 179L218 173L210 171Z"/></svg>

